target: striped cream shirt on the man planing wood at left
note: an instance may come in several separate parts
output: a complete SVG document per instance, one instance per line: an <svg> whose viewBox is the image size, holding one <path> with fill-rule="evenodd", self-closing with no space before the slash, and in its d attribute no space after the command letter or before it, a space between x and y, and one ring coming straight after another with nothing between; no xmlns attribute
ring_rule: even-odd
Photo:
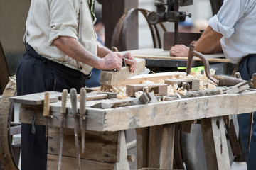
<svg viewBox="0 0 256 170"><path fill-rule="evenodd" d="M82 24L79 26L79 0L31 0L24 39L39 55L89 74L92 67L73 60L52 45L53 40L59 36L78 39L79 35L80 43L85 49L97 55L97 35L90 9L87 0L81 1Z"/></svg>

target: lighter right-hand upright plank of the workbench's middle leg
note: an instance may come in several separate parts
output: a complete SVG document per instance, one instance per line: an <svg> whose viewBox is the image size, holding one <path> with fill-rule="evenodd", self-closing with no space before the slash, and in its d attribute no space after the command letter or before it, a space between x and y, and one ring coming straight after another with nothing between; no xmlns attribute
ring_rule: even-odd
<svg viewBox="0 0 256 170"><path fill-rule="evenodd" d="M173 169L174 166L174 124L164 125L160 149L160 169Z"/></svg>

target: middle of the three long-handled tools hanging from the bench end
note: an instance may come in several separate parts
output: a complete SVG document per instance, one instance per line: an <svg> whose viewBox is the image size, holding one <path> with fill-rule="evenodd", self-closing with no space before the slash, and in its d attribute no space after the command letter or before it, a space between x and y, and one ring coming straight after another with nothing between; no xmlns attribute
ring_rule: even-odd
<svg viewBox="0 0 256 170"><path fill-rule="evenodd" d="M76 89L70 89L70 100L71 100L71 114L74 118L74 134L75 134L75 154L77 158L78 170L81 169L80 166L80 151L79 151L79 141L78 141L78 106L77 106L77 91Z"/></svg>

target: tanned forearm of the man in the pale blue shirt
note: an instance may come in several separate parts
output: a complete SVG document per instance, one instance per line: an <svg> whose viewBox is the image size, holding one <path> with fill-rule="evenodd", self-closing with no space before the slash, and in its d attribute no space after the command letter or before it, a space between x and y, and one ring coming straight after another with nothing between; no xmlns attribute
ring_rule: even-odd
<svg viewBox="0 0 256 170"><path fill-rule="evenodd" d="M215 32L213 28L208 26L196 42L195 50L201 53L215 53L221 51L220 38L223 35Z"/></svg>

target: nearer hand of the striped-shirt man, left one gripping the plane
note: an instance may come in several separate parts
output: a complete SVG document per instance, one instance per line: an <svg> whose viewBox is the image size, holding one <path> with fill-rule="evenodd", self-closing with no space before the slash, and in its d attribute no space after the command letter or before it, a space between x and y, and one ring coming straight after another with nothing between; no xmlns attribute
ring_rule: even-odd
<svg viewBox="0 0 256 170"><path fill-rule="evenodd" d="M110 52L108 55L102 58L102 64L100 69L112 70L117 69L120 71L122 68L122 55L119 52Z"/></svg>

